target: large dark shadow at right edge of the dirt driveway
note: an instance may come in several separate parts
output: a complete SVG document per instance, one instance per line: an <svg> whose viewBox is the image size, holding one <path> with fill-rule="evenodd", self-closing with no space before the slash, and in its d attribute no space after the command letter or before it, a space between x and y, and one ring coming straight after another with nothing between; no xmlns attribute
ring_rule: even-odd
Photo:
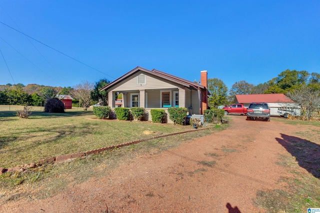
<svg viewBox="0 0 320 213"><path fill-rule="evenodd" d="M275 138L276 141L295 157L298 165L320 178L320 145L285 134L281 137Z"/></svg>

